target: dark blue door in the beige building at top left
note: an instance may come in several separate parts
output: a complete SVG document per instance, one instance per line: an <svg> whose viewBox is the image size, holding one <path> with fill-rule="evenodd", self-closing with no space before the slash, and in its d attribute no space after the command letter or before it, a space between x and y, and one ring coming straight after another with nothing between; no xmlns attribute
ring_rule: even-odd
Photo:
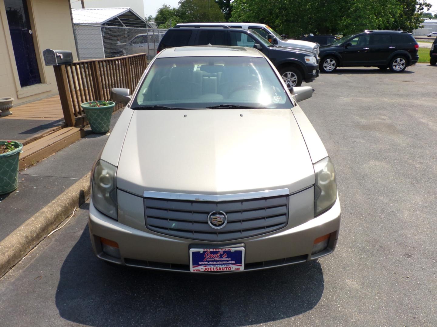
<svg viewBox="0 0 437 327"><path fill-rule="evenodd" d="M4 0L21 87L41 83L26 0Z"/></svg>

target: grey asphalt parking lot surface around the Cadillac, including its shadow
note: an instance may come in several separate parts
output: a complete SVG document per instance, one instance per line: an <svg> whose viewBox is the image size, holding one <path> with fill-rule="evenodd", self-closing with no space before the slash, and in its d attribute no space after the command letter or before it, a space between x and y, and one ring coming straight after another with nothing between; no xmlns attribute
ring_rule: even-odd
<svg viewBox="0 0 437 327"><path fill-rule="evenodd" d="M2 326L437 326L437 67L340 68L301 107L336 167L337 249L221 276L91 252L87 204L0 279Z"/></svg>

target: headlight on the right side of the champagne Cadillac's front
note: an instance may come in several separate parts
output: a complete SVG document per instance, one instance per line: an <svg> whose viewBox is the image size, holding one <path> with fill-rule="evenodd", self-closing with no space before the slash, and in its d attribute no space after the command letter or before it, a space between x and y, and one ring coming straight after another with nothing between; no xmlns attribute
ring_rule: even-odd
<svg viewBox="0 0 437 327"><path fill-rule="evenodd" d="M314 187L314 217L333 206L337 199L337 183L334 165L329 157L314 164L316 185Z"/></svg>

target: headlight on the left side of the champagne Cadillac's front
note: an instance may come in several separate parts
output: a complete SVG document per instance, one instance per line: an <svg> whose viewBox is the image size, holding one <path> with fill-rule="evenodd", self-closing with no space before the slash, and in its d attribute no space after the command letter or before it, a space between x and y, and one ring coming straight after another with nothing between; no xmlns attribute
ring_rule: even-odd
<svg viewBox="0 0 437 327"><path fill-rule="evenodd" d="M117 219L117 188L115 173L117 167L99 160L94 168L91 199L94 207L103 214Z"/></svg>

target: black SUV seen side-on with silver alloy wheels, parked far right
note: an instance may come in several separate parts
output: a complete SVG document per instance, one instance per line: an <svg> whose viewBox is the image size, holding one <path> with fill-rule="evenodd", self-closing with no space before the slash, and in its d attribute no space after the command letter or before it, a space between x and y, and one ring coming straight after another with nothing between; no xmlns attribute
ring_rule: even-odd
<svg viewBox="0 0 437 327"><path fill-rule="evenodd" d="M347 35L330 45L320 46L320 70L330 73L337 67L390 68L403 72L419 60L413 35L403 31L364 31Z"/></svg>

